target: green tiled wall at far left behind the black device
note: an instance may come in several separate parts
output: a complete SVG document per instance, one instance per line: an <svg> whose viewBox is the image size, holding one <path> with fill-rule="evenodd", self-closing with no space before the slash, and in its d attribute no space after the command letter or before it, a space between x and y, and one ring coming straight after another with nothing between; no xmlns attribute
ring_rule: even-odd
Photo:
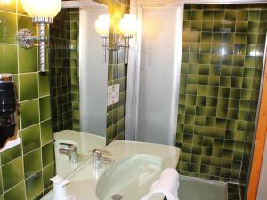
<svg viewBox="0 0 267 200"><path fill-rule="evenodd" d="M8 1L6 1L8 2ZM30 200L43 196L55 172L48 73L37 68L37 47L21 49L18 29L36 26L20 1L0 2L0 73L12 73L20 98L22 144L1 153L0 199Z"/></svg>

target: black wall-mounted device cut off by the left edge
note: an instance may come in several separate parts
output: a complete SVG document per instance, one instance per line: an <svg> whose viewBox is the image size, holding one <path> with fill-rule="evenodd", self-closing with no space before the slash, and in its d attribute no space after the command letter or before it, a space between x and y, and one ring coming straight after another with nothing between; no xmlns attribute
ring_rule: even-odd
<svg viewBox="0 0 267 200"><path fill-rule="evenodd" d="M11 74L0 74L0 148L16 133L17 92Z"/></svg>

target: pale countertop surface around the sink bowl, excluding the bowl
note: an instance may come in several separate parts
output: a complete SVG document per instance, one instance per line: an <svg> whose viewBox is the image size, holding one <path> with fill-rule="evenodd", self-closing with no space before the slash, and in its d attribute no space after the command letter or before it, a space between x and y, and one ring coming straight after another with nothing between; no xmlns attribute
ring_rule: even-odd
<svg viewBox="0 0 267 200"><path fill-rule="evenodd" d="M118 161L127 156L136 154L150 154L163 159L165 167L176 168L180 156L180 149L173 146L115 140L106 148L112 153L112 158ZM101 173L104 172L109 165L103 164L100 170L92 167L92 159L88 159L75 172L72 172L67 179L70 181L67 186L67 192L71 196L76 196L77 200L97 200L95 189ZM149 191L148 191L149 192ZM52 193L44 196L43 200L51 200ZM163 197L154 198L163 199Z"/></svg>

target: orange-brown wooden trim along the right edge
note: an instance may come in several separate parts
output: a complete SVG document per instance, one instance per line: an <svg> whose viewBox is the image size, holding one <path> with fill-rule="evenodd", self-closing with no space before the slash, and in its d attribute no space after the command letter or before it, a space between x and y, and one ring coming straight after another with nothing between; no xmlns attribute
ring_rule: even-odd
<svg viewBox="0 0 267 200"><path fill-rule="evenodd" d="M267 60L267 58L266 58ZM255 200L261 175L263 154L267 133L267 62L263 76L263 92L261 96L258 124L255 136L254 156L247 189L247 200Z"/></svg>

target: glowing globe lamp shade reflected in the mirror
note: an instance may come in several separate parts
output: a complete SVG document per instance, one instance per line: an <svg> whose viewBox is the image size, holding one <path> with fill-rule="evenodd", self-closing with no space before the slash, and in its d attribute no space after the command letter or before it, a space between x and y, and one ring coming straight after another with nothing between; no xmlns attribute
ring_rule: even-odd
<svg viewBox="0 0 267 200"><path fill-rule="evenodd" d="M94 28L96 32L103 36L109 35L110 27L110 16L109 14L102 14L98 16L98 19L95 21Z"/></svg>

